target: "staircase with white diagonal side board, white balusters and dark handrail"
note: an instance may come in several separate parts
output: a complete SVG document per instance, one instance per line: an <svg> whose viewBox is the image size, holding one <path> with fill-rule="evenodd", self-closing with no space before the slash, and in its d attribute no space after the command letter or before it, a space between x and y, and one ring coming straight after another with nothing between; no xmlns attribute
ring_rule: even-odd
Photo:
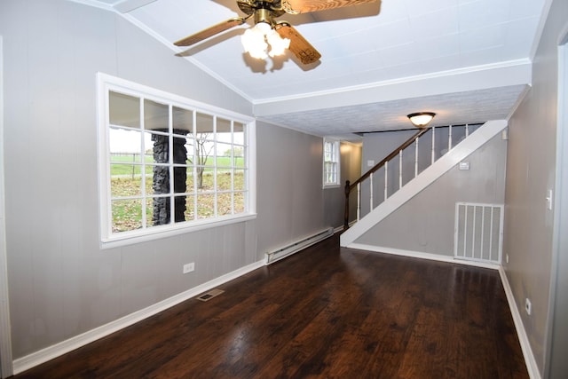
<svg viewBox="0 0 568 379"><path fill-rule="evenodd" d="M506 127L507 121L497 120L485 122L483 125L461 125L459 127L449 126L420 130L353 184L348 181L345 186L345 222L344 232L340 239L341 246L349 247L363 233L395 212L406 201L430 186ZM459 130L463 128L463 132L456 133L458 128L460 128ZM447 130L443 138L442 130ZM427 133L431 133L431 135ZM419 144L421 141L423 142L423 139L431 141L431 154L427 158L429 162L424 162L423 153L419 154ZM437 139L438 143L436 142ZM446 139L447 148L440 148L439 141L443 140L446 143ZM458 143L455 143L456 139L458 139ZM423 150L422 148L422 152ZM412 155L414 155L414 175L411 175L412 178L408 178L408 165L404 164L403 157ZM397 157L398 159L396 159ZM398 167L396 167L396 161L398 161ZM407 161L408 159L406 159ZM393 162L395 162L395 167L393 167ZM393 171L396 171L395 174L397 175L393 175ZM395 183L393 183L393 178ZM382 191L377 191L376 182L379 181L380 185L383 186ZM357 191L357 219L356 223L349 227L349 199L354 191ZM380 194L377 195L377 193ZM369 212L363 217L361 217L362 203L369 204Z"/></svg>

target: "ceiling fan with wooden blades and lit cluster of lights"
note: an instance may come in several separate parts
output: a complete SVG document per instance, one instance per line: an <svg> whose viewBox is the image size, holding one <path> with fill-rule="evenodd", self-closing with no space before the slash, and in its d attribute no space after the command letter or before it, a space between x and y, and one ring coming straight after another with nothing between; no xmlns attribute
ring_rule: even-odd
<svg viewBox="0 0 568 379"><path fill-rule="evenodd" d="M244 24L253 18L255 26L242 36L245 50L254 58L280 55L288 48L304 65L316 62L321 54L288 21L276 21L284 13L300 14L327 11L345 6L374 3L376 0L237 0L237 5L246 17L235 17L180 39L177 46L191 46L210 36ZM270 51L269 49L270 44Z"/></svg>

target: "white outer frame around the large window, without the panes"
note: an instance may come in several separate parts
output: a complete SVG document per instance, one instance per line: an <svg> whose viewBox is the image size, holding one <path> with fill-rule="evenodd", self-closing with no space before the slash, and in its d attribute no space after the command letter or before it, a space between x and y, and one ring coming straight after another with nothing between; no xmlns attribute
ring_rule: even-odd
<svg viewBox="0 0 568 379"><path fill-rule="evenodd" d="M133 83L112 75L97 74L98 81L98 128L99 128L99 215L100 215L100 247L110 249L141 241L152 241L159 238L194 232L201 229L244 222L256 218L256 122L255 119L220 107L213 107L192 99L187 99L166 91ZM109 92L149 99L170 106L191 109L194 112L210 114L233 122L240 122L246 131L244 144L245 162L247 162L247 179L245 188L245 211L238 214L220 217L202 218L185 222L173 222L170 225L156 225L126 231L112 232L111 186L110 186L110 139L109 139ZM173 217L173 215L171 215Z"/></svg>

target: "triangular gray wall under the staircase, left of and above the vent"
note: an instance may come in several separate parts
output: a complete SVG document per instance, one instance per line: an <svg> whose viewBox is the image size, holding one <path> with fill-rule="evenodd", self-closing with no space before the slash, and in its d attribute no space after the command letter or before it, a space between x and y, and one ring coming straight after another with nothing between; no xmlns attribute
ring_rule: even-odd
<svg viewBox="0 0 568 379"><path fill-rule="evenodd" d="M499 134L463 161L470 170L449 170L355 242L454 256L456 201L502 204L506 155Z"/></svg>

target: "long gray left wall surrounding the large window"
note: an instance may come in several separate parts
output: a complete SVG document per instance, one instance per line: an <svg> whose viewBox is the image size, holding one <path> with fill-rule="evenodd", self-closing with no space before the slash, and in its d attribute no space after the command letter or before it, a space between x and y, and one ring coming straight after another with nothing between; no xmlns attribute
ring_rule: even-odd
<svg viewBox="0 0 568 379"><path fill-rule="evenodd" d="M99 249L96 73L251 114L247 99L113 12L3 0L6 243L14 359L335 226L321 138L257 127L256 220ZM333 207L333 205L327 205ZM184 263L195 262L183 275Z"/></svg>

